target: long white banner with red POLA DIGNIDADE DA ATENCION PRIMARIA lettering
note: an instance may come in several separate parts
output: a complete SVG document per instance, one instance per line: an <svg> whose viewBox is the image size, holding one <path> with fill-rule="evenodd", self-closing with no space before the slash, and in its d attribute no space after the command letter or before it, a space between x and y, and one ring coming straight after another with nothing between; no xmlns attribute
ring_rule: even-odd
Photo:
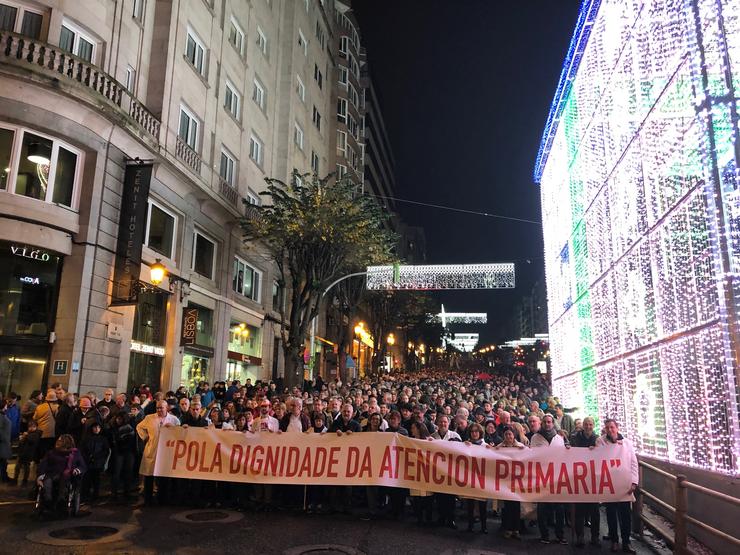
<svg viewBox="0 0 740 555"><path fill-rule="evenodd" d="M392 486L518 501L629 501L627 445L536 449L423 441L393 433L160 431L155 476L338 486Z"/></svg>

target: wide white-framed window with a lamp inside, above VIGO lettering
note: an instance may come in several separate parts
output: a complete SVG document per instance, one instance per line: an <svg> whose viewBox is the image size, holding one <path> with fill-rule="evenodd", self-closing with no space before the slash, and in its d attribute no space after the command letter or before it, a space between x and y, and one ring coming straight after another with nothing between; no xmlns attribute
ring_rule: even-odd
<svg viewBox="0 0 740 555"><path fill-rule="evenodd" d="M82 154L56 139L0 128L0 190L72 208Z"/></svg>

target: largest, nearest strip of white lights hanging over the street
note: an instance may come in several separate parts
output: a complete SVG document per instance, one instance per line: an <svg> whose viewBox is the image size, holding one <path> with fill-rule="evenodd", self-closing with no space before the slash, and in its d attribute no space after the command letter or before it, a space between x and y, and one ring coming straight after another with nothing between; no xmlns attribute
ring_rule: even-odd
<svg viewBox="0 0 740 555"><path fill-rule="evenodd" d="M367 288L408 289L513 289L514 264L449 264L436 266L368 266Z"/></svg>

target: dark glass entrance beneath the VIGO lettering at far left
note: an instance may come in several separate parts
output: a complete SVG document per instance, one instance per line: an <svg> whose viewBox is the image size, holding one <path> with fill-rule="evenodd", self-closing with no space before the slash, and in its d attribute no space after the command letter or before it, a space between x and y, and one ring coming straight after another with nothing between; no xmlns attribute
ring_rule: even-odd
<svg viewBox="0 0 740 555"><path fill-rule="evenodd" d="M49 375L63 256L0 241L0 391L27 399ZM65 372L66 374L66 372Z"/></svg>

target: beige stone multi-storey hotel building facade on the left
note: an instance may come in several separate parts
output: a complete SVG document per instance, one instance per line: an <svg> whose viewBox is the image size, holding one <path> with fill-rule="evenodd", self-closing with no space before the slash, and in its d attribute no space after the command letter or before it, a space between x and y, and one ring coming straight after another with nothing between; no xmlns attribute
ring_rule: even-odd
<svg viewBox="0 0 740 555"><path fill-rule="evenodd" d="M335 166L333 4L2 0L0 16L3 392L281 375L286 295L238 222L266 176Z"/></svg>

